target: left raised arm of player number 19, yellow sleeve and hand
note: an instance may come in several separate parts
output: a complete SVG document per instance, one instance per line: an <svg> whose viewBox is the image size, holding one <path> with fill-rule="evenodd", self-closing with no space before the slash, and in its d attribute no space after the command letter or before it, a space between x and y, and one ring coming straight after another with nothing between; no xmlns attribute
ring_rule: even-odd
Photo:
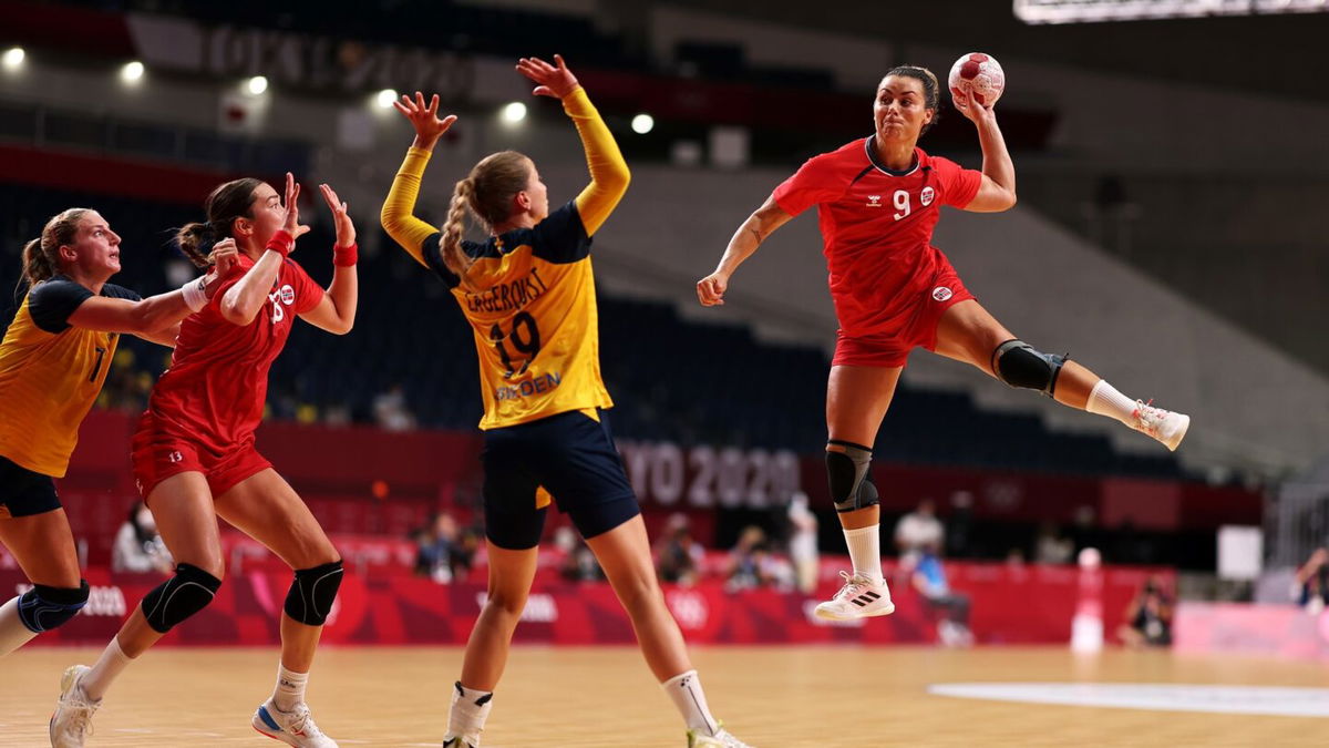
<svg viewBox="0 0 1329 748"><path fill-rule="evenodd" d="M397 176L392 180L392 189L388 190L388 198L383 201L379 220L383 222L383 229L401 245L401 249L411 253L411 257L420 265L428 266L420 248L424 240L439 233L439 229L413 216L415 202L420 194L420 178L433 154L433 146L443 137L443 133L448 132L452 122L457 121L457 116L448 114L439 118L437 93L433 94L428 105L424 102L424 94L419 91L413 100L403 94L401 101L393 101L392 105L397 112L401 112L401 116L411 120L416 138L411 144L411 149L407 150L407 158L397 169Z"/></svg>

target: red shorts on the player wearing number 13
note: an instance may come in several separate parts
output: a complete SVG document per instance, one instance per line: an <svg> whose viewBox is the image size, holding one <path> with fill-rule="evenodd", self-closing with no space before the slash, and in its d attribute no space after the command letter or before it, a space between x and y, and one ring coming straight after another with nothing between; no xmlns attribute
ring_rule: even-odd
<svg viewBox="0 0 1329 748"><path fill-rule="evenodd" d="M254 449L253 439L217 454L198 442L167 434L158 426L157 419L146 413L130 442L130 462L138 494L145 502L158 483L181 472L202 472L215 498L234 488L241 480L272 467L272 463Z"/></svg>

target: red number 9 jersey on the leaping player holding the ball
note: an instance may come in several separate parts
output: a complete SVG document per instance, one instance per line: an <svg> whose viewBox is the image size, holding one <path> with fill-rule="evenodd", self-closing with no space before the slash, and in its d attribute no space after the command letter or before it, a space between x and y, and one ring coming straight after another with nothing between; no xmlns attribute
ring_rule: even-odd
<svg viewBox="0 0 1329 748"><path fill-rule="evenodd" d="M789 216L817 206L831 297L845 335L904 329L913 301L945 264L932 246L942 205L964 208L978 194L982 172L914 149L904 172L876 160L872 137L809 158L775 188Z"/></svg>

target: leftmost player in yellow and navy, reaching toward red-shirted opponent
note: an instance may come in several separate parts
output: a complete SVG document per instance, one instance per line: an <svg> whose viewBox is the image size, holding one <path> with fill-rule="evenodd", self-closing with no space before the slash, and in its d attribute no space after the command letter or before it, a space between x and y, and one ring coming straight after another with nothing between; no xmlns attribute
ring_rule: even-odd
<svg viewBox="0 0 1329 748"><path fill-rule="evenodd" d="M88 602L54 479L69 467L118 335L174 346L179 321L203 307L234 256L219 254L211 273L179 290L140 299L106 282L120 272L120 237L96 210L58 213L24 248L29 290L0 343L0 543L32 588L0 606L0 656Z"/></svg>

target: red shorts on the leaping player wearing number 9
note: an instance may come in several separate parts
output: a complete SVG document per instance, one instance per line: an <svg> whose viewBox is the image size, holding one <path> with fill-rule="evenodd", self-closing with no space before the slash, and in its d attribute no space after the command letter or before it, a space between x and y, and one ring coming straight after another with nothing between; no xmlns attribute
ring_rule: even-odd
<svg viewBox="0 0 1329 748"><path fill-rule="evenodd" d="M937 273L930 286L918 294L913 314L904 329L847 335L836 331L835 357L831 366L904 366L909 351L917 346L937 349L937 323L941 315L962 301L974 298L960 276L948 265Z"/></svg>

